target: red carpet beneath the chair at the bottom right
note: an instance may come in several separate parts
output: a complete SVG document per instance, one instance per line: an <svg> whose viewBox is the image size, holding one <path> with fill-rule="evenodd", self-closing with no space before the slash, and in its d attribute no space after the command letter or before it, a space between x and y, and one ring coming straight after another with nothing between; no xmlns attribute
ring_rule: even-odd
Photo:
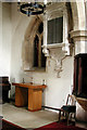
<svg viewBox="0 0 87 130"><path fill-rule="evenodd" d="M66 126L65 122L52 122L35 130L87 130L75 126Z"/></svg>

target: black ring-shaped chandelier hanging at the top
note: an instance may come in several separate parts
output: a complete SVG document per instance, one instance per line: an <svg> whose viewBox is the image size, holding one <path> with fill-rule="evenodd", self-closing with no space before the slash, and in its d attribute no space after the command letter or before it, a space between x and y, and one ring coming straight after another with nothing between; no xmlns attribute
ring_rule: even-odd
<svg viewBox="0 0 87 130"><path fill-rule="evenodd" d="M44 9L46 6L45 0L44 4L38 3L38 2L27 2L27 3L21 3L21 0L18 0L17 5L18 10L23 13L26 14L27 16L29 15L39 15L44 13Z"/></svg>

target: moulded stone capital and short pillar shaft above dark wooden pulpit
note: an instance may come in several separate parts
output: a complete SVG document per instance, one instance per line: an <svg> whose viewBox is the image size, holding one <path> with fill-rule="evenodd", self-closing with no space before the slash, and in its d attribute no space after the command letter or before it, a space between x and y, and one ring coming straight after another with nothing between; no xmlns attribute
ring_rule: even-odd
<svg viewBox="0 0 87 130"><path fill-rule="evenodd" d="M75 55L87 53L87 30L72 30L71 38L74 39Z"/></svg>

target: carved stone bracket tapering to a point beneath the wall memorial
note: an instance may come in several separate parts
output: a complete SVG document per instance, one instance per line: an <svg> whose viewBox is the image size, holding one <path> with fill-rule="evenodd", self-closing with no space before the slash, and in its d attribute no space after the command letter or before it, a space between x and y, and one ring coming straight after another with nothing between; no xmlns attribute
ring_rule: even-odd
<svg viewBox="0 0 87 130"><path fill-rule="evenodd" d="M50 47L50 46L49 46ZM45 56L49 56L50 60L54 62L54 72L57 72L57 77L60 78L60 73L63 70L62 62L66 57L64 50L62 50L62 46L58 48L53 47L42 47Z"/></svg>

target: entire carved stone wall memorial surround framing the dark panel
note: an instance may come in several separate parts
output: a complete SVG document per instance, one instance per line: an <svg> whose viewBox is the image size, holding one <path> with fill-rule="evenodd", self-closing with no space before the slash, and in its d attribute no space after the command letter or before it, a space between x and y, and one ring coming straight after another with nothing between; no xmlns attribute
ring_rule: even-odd
<svg viewBox="0 0 87 130"><path fill-rule="evenodd" d="M48 39L48 29L49 21L58 17L63 18L62 40L54 43L54 40L50 42ZM58 73L58 77L60 77L60 72L62 72L62 61L66 55L70 55L67 11L65 2L53 2L51 4L47 4L44 15L44 25L42 52L45 53L45 56L49 56L54 61L54 70Z"/></svg>

